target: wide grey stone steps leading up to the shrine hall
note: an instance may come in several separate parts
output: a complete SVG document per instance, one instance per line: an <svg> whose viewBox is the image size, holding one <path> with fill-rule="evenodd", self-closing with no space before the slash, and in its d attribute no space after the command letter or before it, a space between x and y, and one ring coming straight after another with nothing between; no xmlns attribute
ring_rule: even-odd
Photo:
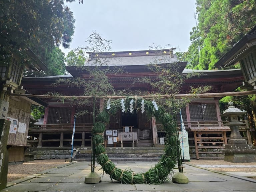
<svg viewBox="0 0 256 192"><path fill-rule="evenodd" d="M111 161L158 161L164 147L107 147L106 154ZM91 161L91 148L77 148L72 160Z"/></svg>

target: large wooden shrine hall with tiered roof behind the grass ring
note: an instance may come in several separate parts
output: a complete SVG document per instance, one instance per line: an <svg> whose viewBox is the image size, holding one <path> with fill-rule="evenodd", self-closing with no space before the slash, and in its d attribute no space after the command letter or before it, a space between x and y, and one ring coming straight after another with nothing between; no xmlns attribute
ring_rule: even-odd
<svg viewBox="0 0 256 192"><path fill-rule="evenodd" d="M232 92L238 88L244 78L241 69L232 70L190 70L186 69L187 62L178 62L177 56L173 53L174 49L162 50L142 50L142 51L122 51L122 52L105 52L105 53L88 53L89 59L85 63L84 68L92 67L95 62L103 62L108 60L108 67L118 67L123 70L122 73L107 74L109 82L116 90L129 89L134 92L140 90L143 92L156 93L157 89L151 87L148 83L141 83L135 79L151 78L156 79L157 74L149 69L150 65L176 65L176 70L180 74L193 74L185 80L179 94L186 94L191 86L210 86L208 93ZM164 59L163 59L164 58ZM104 66L101 66L104 68ZM50 77L23 77L22 86L29 94L45 95L49 92L55 92L65 96L83 95L83 89L69 84L61 83L53 86L59 78L75 79L77 77L89 79L90 74L83 67L66 66L68 75L50 76ZM171 93L170 93L171 94ZM188 131L189 145L197 147L199 145L211 145L212 148L219 149L220 145L224 145L229 137L229 130L223 126L225 122L221 120L219 99L221 97L194 98L189 104L181 109L183 121ZM93 124L91 106L71 105L71 102L59 102L54 98L42 98L47 104L45 108L44 119L41 124L30 125L28 143L33 147L52 147L52 146L70 146L74 115L85 110L88 113L76 119L76 131L74 136L74 145L79 147L91 145L91 128ZM96 103L100 108L103 99L99 99ZM178 114L178 124L180 126L180 115ZM121 133L127 133L123 127L132 127L128 133L132 133L132 140L126 140ZM206 136L200 137L199 128L207 127L208 131L214 129L212 140L214 142L205 142ZM111 132L110 132L111 131ZM113 136L114 131L117 136ZM225 133L224 133L225 131ZM111 134L110 134L111 133ZM116 134L116 133L115 133ZM209 133L206 133L209 134ZM225 136L227 134L227 137ZM119 111L115 116L111 116L110 123L107 125L105 140L114 138L113 144L106 146L119 147L140 147L140 146L158 146L159 138L163 137L161 125L154 118L147 119L145 113L122 113ZM121 137L121 138L120 138ZM198 140L199 139L199 140ZM113 140L114 141L114 140ZM215 147L216 146L216 147ZM196 158L202 158L197 154ZM218 158L218 157L216 157ZM220 157L221 158L221 157Z"/></svg>

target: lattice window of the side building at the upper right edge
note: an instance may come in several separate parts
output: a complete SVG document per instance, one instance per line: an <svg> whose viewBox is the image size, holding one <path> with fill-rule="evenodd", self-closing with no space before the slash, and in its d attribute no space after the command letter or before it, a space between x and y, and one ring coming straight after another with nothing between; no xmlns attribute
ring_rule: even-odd
<svg viewBox="0 0 256 192"><path fill-rule="evenodd" d="M252 51L241 60L247 81L256 77L256 52Z"/></svg>

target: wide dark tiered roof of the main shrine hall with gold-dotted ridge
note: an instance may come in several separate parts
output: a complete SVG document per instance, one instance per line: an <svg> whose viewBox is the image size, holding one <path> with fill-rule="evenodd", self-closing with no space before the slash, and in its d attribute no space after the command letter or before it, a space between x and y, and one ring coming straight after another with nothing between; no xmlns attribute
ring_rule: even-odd
<svg viewBox="0 0 256 192"><path fill-rule="evenodd" d="M105 53L89 53L89 60L83 67L66 66L70 74L58 75L50 77L23 77L22 85L24 89L31 94L46 94L47 92L61 92L62 94L82 94L83 89L69 87L65 84L60 84L53 87L52 84L59 78L76 78L84 79L91 78L91 74L86 68L94 68L94 61L97 61L97 67L104 69L122 69L122 73L106 74L113 87L117 90L146 90L157 91L150 87L148 83L140 82L138 79L150 78L152 81L157 81L158 74L151 69L159 66L172 67L176 72L198 73L186 79L180 94L185 94L190 90L191 86L212 86L211 93L231 92L239 87L243 80L241 69L232 70L192 70L185 69L187 62L178 62L176 55L172 52L173 49L163 50L143 50L143 51L121 51L121 52L105 52ZM100 65L105 64L106 65ZM102 62L102 63L101 63ZM135 81L136 80L136 81Z"/></svg>

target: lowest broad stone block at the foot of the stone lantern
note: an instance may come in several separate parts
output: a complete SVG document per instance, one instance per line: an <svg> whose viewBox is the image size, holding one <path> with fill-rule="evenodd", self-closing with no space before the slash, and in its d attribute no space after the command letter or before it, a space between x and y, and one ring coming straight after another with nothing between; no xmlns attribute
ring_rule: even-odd
<svg viewBox="0 0 256 192"><path fill-rule="evenodd" d="M256 162L256 153L225 153L224 161L232 163Z"/></svg>

